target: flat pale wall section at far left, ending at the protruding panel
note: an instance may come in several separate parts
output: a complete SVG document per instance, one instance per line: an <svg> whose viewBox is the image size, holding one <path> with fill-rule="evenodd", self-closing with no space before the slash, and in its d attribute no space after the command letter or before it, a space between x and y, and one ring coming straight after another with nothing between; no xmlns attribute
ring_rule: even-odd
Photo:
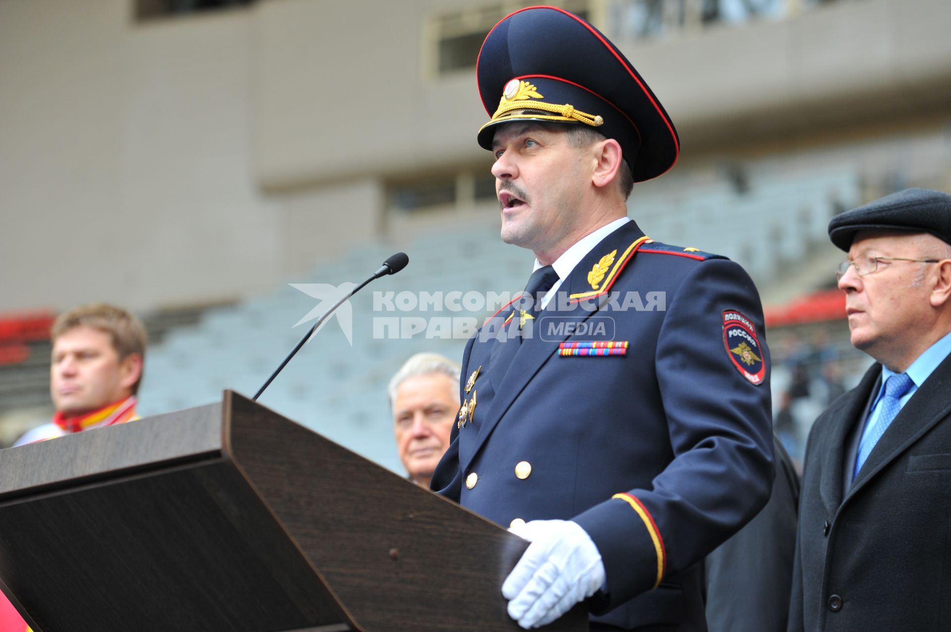
<svg viewBox="0 0 951 632"><path fill-rule="evenodd" d="M281 271L281 209L251 167L250 15L128 10L0 4L2 309L215 300Z"/></svg>

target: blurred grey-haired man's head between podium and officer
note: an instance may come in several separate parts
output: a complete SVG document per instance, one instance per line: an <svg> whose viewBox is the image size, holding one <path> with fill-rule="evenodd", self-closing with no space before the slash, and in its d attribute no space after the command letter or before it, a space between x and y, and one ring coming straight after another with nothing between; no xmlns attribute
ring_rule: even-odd
<svg viewBox="0 0 951 632"><path fill-rule="evenodd" d="M399 460L410 480L429 488L459 410L459 365L416 354L390 380L388 393Z"/></svg>

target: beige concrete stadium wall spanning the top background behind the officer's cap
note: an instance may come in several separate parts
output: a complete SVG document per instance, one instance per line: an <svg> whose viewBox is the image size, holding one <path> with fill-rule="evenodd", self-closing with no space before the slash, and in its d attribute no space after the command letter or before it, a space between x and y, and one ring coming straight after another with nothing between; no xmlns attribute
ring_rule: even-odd
<svg viewBox="0 0 951 632"><path fill-rule="evenodd" d="M0 311L262 293L387 231L386 178L488 168L473 73L421 69L427 16L472 4L269 0L136 23L125 0L0 2ZM697 155L940 125L949 22L944 0L864 0L618 44Z"/></svg>

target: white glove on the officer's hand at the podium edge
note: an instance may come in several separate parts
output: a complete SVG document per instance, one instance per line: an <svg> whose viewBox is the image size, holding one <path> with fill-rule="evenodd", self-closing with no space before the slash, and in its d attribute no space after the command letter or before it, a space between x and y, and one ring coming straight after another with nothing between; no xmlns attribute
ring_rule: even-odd
<svg viewBox="0 0 951 632"><path fill-rule="evenodd" d="M601 554L577 523L533 520L509 530L532 543L502 584L509 616L523 628L553 622L604 584Z"/></svg>

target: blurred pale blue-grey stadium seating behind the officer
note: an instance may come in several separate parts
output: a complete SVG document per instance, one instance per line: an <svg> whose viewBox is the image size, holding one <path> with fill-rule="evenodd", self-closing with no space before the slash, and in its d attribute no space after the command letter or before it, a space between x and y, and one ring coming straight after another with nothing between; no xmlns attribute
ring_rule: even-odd
<svg viewBox="0 0 951 632"><path fill-rule="evenodd" d="M726 182L711 182L631 199L631 216L650 237L724 254L743 264L759 283L768 282L784 262L806 257L837 211L860 202L858 178L847 169L821 172L752 172L745 192ZM390 338L377 331L375 318L430 319L468 317L479 322L495 309L454 312L375 311L387 296L397 306L399 293L514 293L531 271L532 256L498 239L495 214L483 228L419 238L406 247L410 264L395 277L379 279L351 299L352 343L340 321L328 320L304 345L269 389L262 404L325 434L379 464L400 471L386 385L411 354L433 351L458 359L465 338ZM378 243L354 250L295 283L359 281L395 250ZM459 253L465 253L460 257ZM476 295L477 296L477 295ZM290 286L266 297L204 313L197 326L172 332L150 349L140 412L167 412L220 399L223 389L255 393L313 321L294 325L318 299ZM385 300L379 303L389 304ZM329 302L324 305L329 307ZM498 305L495 306L496 308ZM343 318L345 320L345 318ZM418 321L416 321L418 322ZM432 320L427 320L432 322ZM379 323L378 323L379 324ZM384 337L380 337L380 334Z"/></svg>

